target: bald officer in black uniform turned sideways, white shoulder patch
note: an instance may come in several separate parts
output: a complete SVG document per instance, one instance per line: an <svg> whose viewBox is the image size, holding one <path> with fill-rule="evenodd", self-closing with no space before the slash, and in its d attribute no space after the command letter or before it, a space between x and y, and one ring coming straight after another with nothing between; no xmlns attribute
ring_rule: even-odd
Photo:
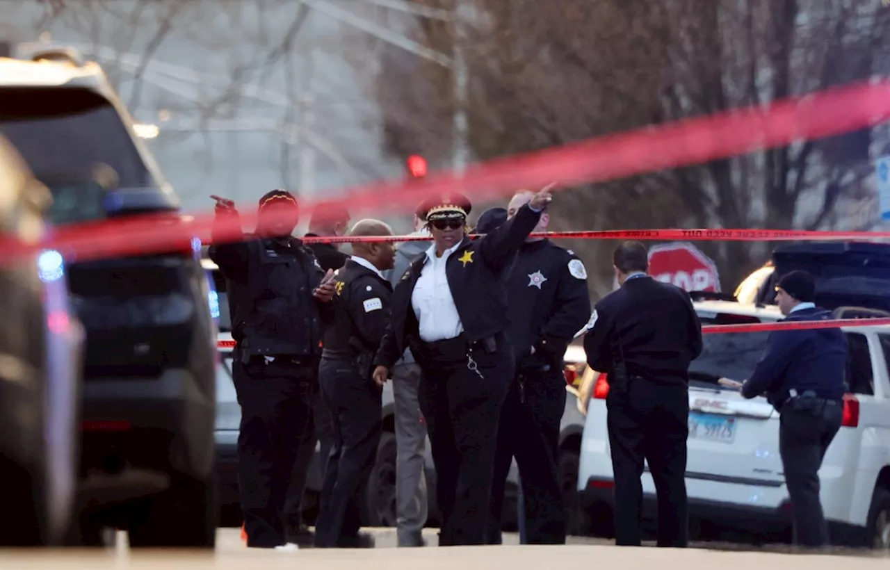
<svg viewBox="0 0 890 570"><path fill-rule="evenodd" d="M392 229L382 221L362 220L351 235L392 236ZM359 504L380 443L382 391L371 372L389 322L392 285L383 271L392 269L395 247L392 242L356 242L352 251L335 277L333 321L319 369L334 441L315 526L315 545L322 548L371 545L359 535Z"/></svg>

